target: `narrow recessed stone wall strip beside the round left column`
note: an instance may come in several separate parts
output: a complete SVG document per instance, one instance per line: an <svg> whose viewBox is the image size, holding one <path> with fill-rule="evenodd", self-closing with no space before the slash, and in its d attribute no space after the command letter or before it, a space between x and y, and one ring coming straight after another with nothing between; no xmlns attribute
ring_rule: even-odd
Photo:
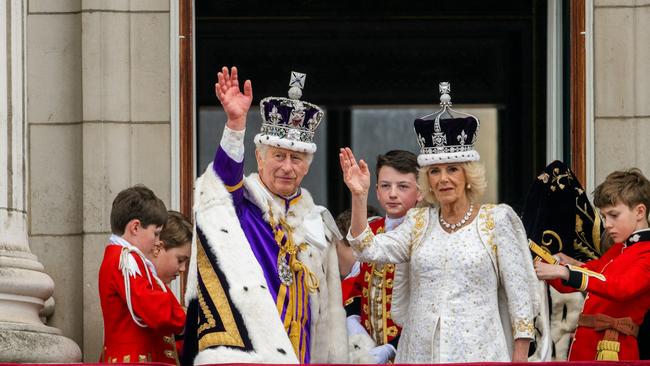
<svg viewBox="0 0 650 366"><path fill-rule="evenodd" d="M58 327L83 349L80 1L29 1L29 240L54 280Z"/></svg>

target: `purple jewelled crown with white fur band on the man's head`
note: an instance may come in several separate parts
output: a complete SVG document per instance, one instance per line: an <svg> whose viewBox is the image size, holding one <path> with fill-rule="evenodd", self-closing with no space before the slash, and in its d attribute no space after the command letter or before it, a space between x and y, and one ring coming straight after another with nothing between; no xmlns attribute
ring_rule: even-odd
<svg viewBox="0 0 650 366"><path fill-rule="evenodd" d="M262 128L255 143L283 149L314 153L314 133L324 116L315 104L300 100L306 74L292 71L289 98L267 97L260 101Z"/></svg>

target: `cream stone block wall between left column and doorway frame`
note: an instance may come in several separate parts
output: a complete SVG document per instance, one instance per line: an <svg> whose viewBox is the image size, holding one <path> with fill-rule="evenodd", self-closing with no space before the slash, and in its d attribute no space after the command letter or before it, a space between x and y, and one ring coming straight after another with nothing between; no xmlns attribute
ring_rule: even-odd
<svg viewBox="0 0 650 366"><path fill-rule="evenodd" d="M30 0L27 37L30 243L49 322L94 362L113 198L142 183L170 203L169 1Z"/></svg>

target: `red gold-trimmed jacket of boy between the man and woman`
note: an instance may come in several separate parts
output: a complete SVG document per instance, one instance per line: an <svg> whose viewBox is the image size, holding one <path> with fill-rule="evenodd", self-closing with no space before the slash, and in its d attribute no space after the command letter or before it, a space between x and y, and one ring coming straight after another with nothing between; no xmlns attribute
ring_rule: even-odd
<svg viewBox="0 0 650 366"><path fill-rule="evenodd" d="M384 232L384 223L385 219L379 218L368 225L373 233L380 234ZM361 324L378 345L390 343L397 348L401 329L390 316L394 277L394 264L361 263L354 283L344 284L344 291L348 291L344 302L348 316L360 315Z"/></svg>

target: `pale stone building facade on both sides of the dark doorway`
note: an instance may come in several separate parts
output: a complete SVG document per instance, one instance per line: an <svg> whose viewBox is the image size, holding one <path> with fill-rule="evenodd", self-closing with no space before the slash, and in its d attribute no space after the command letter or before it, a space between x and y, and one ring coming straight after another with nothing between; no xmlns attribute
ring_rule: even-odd
<svg viewBox="0 0 650 366"><path fill-rule="evenodd" d="M60 360L80 356L72 340L84 361L96 361L97 272L112 199L143 183L178 207L179 12L168 0L7 0L0 7L8 56L0 59L0 274L31 271L11 284L0 275L0 338L16 324L39 328L66 345ZM587 1L586 12L593 20L585 34L593 187L614 169L650 174L650 0ZM38 311L52 281L45 327ZM2 318L18 306L16 296L40 300L24 318ZM34 354L22 351L25 359ZM7 354L0 346L0 361Z"/></svg>

